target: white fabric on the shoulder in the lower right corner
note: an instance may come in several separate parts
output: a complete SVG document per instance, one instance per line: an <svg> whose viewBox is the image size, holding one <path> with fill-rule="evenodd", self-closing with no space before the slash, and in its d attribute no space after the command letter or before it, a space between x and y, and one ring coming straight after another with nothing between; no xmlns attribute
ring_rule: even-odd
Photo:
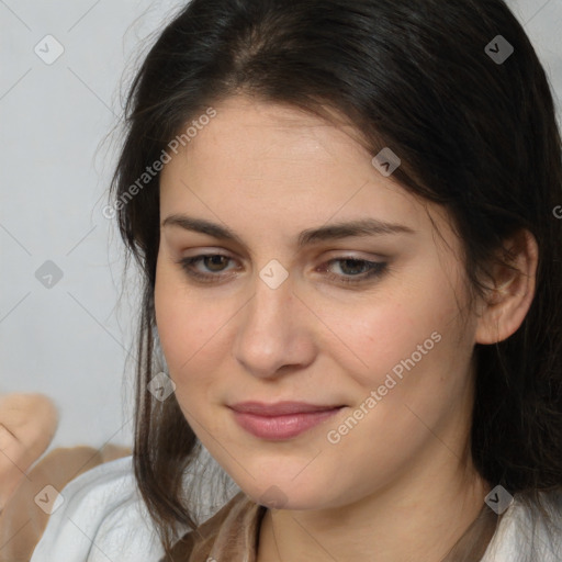
<svg viewBox="0 0 562 562"><path fill-rule="evenodd" d="M532 497L516 495L481 562L560 562L562 488L539 492L539 496L548 518Z"/></svg>

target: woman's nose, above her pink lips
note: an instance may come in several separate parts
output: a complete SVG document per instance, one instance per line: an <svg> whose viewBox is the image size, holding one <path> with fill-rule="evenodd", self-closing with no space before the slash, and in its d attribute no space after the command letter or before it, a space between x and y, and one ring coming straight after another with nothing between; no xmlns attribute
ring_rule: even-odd
<svg viewBox="0 0 562 562"><path fill-rule="evenodd" d="M314 315L293 292L291 276L276 289L256 276L254 286L254 296L238 315L236 360L262 379L279 376L289 367L307 367L315 356Z"/></svg>

